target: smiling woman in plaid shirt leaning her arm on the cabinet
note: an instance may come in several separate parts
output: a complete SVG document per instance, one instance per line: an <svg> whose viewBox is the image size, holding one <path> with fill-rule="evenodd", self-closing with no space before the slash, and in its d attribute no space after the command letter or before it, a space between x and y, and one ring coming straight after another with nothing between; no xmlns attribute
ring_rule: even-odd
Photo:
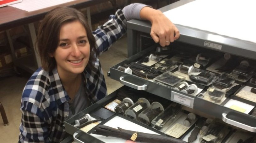
<svg viewBox="0 0 256 143"><path fill-rule="evenodd" d="M133 18L150 20L151 35L163 46L169 44L166 38L179 37L160 11L138 3L117 10L94 32L74 8L58 7L46 14L36 43L42 67L22 93L19 142L62 141L63 122L106 96L98 57L126 33L126 21Z"/></svg>

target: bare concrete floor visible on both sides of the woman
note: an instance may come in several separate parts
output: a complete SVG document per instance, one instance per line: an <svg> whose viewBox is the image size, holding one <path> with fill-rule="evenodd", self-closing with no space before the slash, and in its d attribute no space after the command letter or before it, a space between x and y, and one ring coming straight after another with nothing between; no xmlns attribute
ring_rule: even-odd
<svg viewBox="0 0 256 143"><path fill-rule="evenodd" d="M119 81L107 77L109 68L127 58L127 38L122 37L100 57L101 66L104 71L108 94L112 93L122 85ZM14 143L18 141L19 125L21 121L20 99L22 90L29 79L29 76L12 76L0 81L0 101L4 106L9 125L4 126L0 116L0 142Z"/></svg>

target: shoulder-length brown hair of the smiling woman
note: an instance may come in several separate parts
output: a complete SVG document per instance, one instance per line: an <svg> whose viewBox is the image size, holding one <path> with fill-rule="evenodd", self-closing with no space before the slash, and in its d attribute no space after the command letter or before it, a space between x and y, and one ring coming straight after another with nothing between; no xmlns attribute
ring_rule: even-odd
<svg viewBox="0 0 256 143"><path fill-rule="evenodd" d="M94 54L95 38L91 33L90 27L85 20L85 16L77 9L70 7L57 7L46 14L42 20L37 33L37 49L41 58L42 68L51 71L56 66L54 57L49 53L55 52L59 44L60 28L64 23L79 21L84 26L90 43L90 58L87 66L92 67L95 61Z"/></svg>

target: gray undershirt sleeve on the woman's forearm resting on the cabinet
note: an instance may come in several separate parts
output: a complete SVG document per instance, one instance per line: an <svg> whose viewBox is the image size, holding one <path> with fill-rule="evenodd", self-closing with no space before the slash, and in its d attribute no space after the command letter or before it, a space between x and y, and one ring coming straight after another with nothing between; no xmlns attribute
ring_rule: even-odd
<svg viewBox="0 0 256 143"><path fill-rule="evenodd" d="M123 8L123 14L127 21L131 19L141 19L139 12L143 7L151 7L141 3L132 3ZM151 7L152 8L152 7Z"/></svg>

